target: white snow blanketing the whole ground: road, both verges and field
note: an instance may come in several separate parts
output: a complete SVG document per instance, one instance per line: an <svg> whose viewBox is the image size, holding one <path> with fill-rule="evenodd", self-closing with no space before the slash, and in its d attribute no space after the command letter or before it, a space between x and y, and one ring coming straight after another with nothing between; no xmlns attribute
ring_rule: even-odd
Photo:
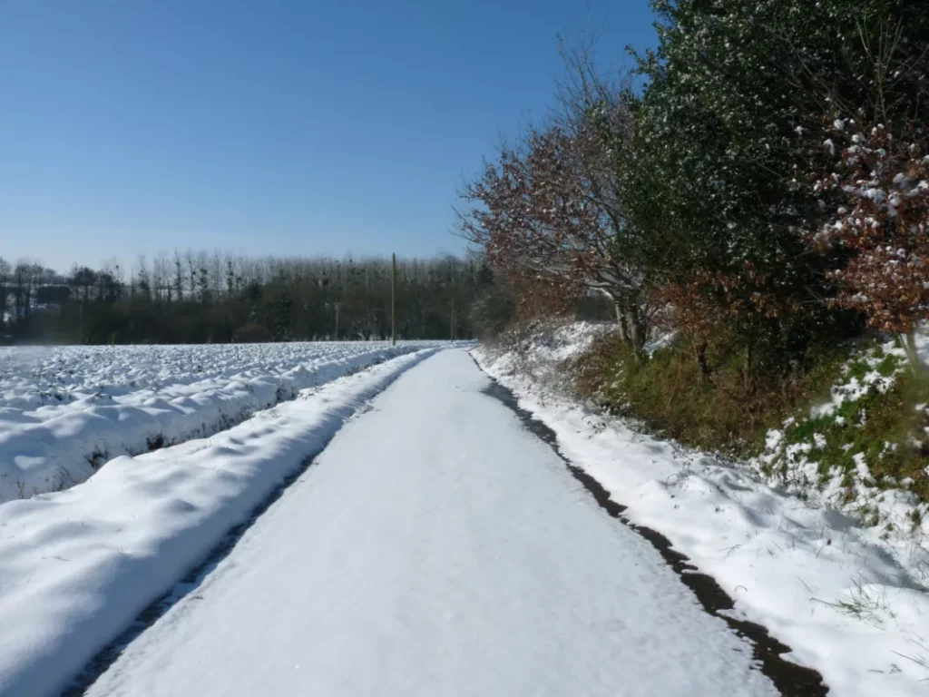
<svg viewBox="0 0 929 697"><path fill-rule="evenodd" d="M556 432L562 454L628 506L625 515L713 575L735 600L732 614L768 627L831 694L922 695L922 537L858 527L823 499L801 500L748 467L644 436L563 397L554 366L603 331L572 325L519 355L475 355ZM436 350L0 353L8 404L0 418L14 431L53 433L46 422L94 408L75 405L98 389L129 414L144 412L145 390L209 406L202 395L234 401L239 384L254 382L271 403L290 400L266 411L243 401L229 418L244 420L210 438L117 457L68 491L0 506L0 694L61 690L172 588L177 603L88 694L776 694L751 647L701 610L659 553L481 393L489 380L468 355ZM64 379L33 375L30 365ZM883 379L864 375L854 384L849 376L834 400L857 399L865 383ZM295 399L278 397L281 385L306 384ZM74 398L43 418L59 405L43 411L35 400L54 385ZM337 431L195 592L177 592ZM72 450L81 452L83 431L74 433ZM67 428L59 435L71 438ZM790 447L812 447L817 435ZM770 447L782 438L769 433ZM127 448L108 442L111 453ZM859 465L859 477L870 477ZM882 506L900 519L911 510L904 492L885 492Z"/></svg>

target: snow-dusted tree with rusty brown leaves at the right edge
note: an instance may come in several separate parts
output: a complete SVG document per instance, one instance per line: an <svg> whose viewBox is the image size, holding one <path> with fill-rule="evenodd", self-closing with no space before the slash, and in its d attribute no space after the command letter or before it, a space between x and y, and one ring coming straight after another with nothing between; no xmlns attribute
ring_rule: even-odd
<svg viewBox="0 0 929 697"><path fill-rule="evenodd" d="M925 132L911 124L899 131L895 137L886 125L834 121L823 147L835 165L815 188L844 194L844 202L810 243L848 250L847 266L831 272L840 288L834 303L902 335L917 368L914 332L929 319L929 157Z"/></svg>

